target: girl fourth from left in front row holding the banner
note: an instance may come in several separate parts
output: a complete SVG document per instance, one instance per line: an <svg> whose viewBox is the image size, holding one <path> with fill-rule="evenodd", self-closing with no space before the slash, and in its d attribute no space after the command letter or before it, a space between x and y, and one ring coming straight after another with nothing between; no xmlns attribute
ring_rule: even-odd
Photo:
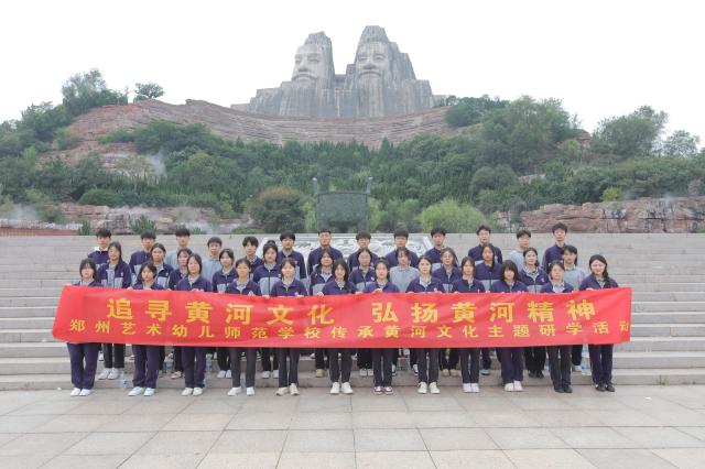
<svg viewBox="0 0 705 469"><path fill-rule="evenodd" d="M237 276L228 284L225 293L232 295L259 296L260 287L250 280L251 264L246 258L239 259L235 263ZM230 357L230 377L232 378L232 388L228 391L228 395L238 395L242 392L240 383L240 369L242 353L245 353L245 393L249 396L254 395L254 370L257 369L257 348L254 347L230 347L228 348ZM220 352L218 352L220 357Z"/></svg>

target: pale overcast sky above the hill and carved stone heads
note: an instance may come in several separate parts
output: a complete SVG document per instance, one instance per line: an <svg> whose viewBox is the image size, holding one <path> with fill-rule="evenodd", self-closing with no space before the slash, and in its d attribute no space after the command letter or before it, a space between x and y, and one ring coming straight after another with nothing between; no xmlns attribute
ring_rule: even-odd
<svg viewBox="0 0 705 469"><path fill-rule="evenodd" d="M583 128L650 105L705 139L705 4L693 1L36 1L2 6L0 120L61 101L100 69L112 88L155 81L163 100L247 102L291 76L311 32L336 73L378 24L434 94L560 98Z"/></svg>

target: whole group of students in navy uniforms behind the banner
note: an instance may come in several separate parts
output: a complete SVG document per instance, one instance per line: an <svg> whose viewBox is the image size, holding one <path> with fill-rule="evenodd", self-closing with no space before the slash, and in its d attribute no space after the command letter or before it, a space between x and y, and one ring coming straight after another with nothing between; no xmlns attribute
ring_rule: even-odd
<svg viewBox="0 0 705 469"><path fill-rule="evenodd" d="M566 243L567 227L553 227L555 244L546 249L539 261L532 248L531 232L517 232L517 249L503 260L501 250L490 242L491 229L477 230L479 243L458 260L452 248L445 247L446 232L442 228L431 231L433 247L419 257L406 248L409 233L393 233L394 249L378 258L369 249L370 233L356 236L358 250L344 259L330 246L328 229L318 232L319 247L306 260L294 250L296 237L286 231L280 236L281 248L273 241L262 247L248 236L242 241L245 255L236 259L231 249L223 249L223 241L213 237L207 242L208 257L204 260L188 247L191 233L176 230L177 249L166 253L155 242L152 232L141 236L142 250L133 253L129 262L122 259L119 242L101 229L96 233L98 247L80 262L80 280L75 285L134 288L203 291L220 294L278 296L351 295L360 293L568 293L574 290L614 288L617 283L607 272L607 261L600 254L592 255L589 272L577 265L577 249ZM544 268L545 266L545 268ZM126 346L121 343L68 343L72 367L70 395L88 395L94 386L99 351L102 348L104 370L99 380L113 380L124 375ZM614 392L611 381L612 345L589 345L590 370L597 391ZM129 395L153 395L160 370L164 369L165 348L132 345L134 356L133 389ZM231 379L228 395L245 392L254 395L256 363L261 357L261 378L276 378L276 395L299 394L299 348L217 348L218 378ZM184 378L182 395L200 395L206 384L206 363L213 350L206 347L173 347L172 379ZM402 351L403 352L403 351ZM499 347L496 355L501 364L505 391L522 391L524 363L529 377L544 378L549 359L553 388L558 393L572 393L571 372L581 370L583 345L550 347ZM241 384L241 360L245 356L245 389ZM395 348L315 349L316 377L323 378L328 369L330 394L352 394L350 375L352 359L357 357L360 377L372 375L375 394L392 394L400 350ZM463 391L479 392L479 377L490 374L491 356L488 348L412 348L409 361L419 379L417 392L438 394L438 378L458 374ZM459 372L456 369L459 363ZM371 373L370 373L371 370Z"/></svg>

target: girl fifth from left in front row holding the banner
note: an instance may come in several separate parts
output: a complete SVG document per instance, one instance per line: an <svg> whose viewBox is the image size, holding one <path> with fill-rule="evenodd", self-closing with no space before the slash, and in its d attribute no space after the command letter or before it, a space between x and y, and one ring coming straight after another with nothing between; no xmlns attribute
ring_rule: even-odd
<svg viewBox="0 0 705 469"><path fill-rule="evenodd" d="M279 269L282 271L282 279L272 286L270 296L306 296L306 286L295 277L296 263L293 259L286 258ZM279 389L276 395L299 395L299 356L300 350L294 348L278 348L279 358ZM286 363L289 358L289 363Z"/></svg>

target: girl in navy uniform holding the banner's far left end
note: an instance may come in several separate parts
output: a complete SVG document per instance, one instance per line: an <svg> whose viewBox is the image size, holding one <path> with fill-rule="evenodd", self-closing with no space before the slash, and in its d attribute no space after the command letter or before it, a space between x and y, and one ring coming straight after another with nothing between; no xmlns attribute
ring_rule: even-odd
<svg viewBox="0 0 705 469"><path fill-rule="evenodd" d="M76 286L101 287L98 282L98 269L93 259L86 258L78 265L80 280L75 282ZM70 360L70 382L74 389L70 396L86 396L93 392L96 380L96 369L98 368L98 352L100 343L96 342L66 342L68 358Z"/></svg>

